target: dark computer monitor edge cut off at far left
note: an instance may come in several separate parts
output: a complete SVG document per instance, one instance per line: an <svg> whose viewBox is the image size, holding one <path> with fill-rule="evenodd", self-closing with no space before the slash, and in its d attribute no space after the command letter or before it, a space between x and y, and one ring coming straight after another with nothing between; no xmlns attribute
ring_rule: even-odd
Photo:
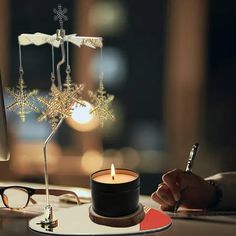
<svg viewBox="0 0 236 236"><path fill-rule="evenodd" d="M0 161L9 160L10 154L8 148L7 121L0 73Z"/></svg>

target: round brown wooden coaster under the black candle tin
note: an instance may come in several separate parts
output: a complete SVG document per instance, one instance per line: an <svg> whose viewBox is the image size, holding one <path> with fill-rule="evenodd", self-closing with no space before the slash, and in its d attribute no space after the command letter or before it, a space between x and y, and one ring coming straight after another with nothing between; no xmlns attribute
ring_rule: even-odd
<svg viewBox="0 0 236 236"><path fill-rule="evenodd" d="M144 219L143 205L139 203L138 210L134 213L121 217L106 217L95 213L92 205L89 207L89 218L96 224L112 227L129 227L140 223Z"/></svg>

